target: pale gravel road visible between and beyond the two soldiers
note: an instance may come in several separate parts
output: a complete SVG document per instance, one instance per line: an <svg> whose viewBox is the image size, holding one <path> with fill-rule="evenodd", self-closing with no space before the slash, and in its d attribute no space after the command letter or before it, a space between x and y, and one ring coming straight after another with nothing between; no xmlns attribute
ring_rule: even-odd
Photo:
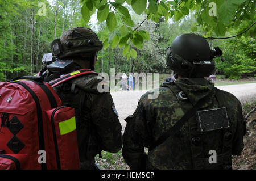
<svg viewBox="0 0 256 181"><path fill-rule="evenodd" d="M218 89L227 91L236 96L241 102L256 98L256 83L247 83L241 85L216 86ZM115 108L119 114L119 120L122 124L122 131L125 128L125 118L132 115L135 111L139 98L146 93L143 91L117 91L111 92Z"/></svg>

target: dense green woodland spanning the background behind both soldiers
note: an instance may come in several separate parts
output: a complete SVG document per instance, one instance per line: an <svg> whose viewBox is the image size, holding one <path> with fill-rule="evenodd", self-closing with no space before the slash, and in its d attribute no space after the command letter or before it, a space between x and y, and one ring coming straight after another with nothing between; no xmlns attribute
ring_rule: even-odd
<svg viewBox="0 0 256 181"><path fill-rule="evenodd" d="M46 5L45 15L42 2ZM222 7L224 10L220 9L213 20L204 15L209 2L148 0L150 6L145 4L141 10L134 4L138 0L0 0L0 81L35 74L40 70L43 54L51 52L51 41L76 26L92 28L104 42L96 71L110 73L110 68L115 68L115 73L170 73L165 63L166 48L181 33L227 37L255 23L255 1L235 0L231 4L230 0L214 0L217 7L230 6L234 12L229 14ZM109 15L114 15L114 27L108 23ZM224 52L223 62L216 58L217 74L230 79L255 76L255 27L232 39L209 40L212 48L219 46Z"/></svg>

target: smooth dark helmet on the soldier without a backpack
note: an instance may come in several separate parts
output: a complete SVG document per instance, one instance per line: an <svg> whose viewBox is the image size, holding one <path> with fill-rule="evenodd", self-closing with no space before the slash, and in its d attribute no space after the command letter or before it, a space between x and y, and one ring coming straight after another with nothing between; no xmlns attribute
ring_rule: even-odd
<svg viewBox="0 0 256 181"><path fill-rule="evenodd" d="M166 64L183 77L209 77L215 68L213 58L221 56L218 47L210 50L207 40L195 34L177 36L167 48Z"/></svg>

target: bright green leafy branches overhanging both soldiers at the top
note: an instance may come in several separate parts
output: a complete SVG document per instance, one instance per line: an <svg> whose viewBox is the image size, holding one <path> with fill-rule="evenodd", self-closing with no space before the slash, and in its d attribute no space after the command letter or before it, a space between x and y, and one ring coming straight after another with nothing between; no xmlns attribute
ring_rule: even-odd
<svg viewBox="0 0 256 181"><path fill-rule="evenodd" d="M91 12L94 12L94 9L97 9L98 22L104 22L106 20L106 26L108 27L109 35L114 32L121 32L121 35L119 36L119 44L121 45L119 47L125 46L125 40L129 34L132 34L132 36L129 36L127 41L129 41L130 44L134 45L138 49L142 49L144 46L144 40L148 39L148 37L145 39L145 37L141 36L140 33L136 33L137 30L143 30L141 28L141 23L146 19L142 19L139 23L138 19L134 18L135 14L144 16L144 18L147 18L147 20L152 20L156 23L159 22L159 19L163 19L164 22L168 22L168 19L180 22L181 20L184 20L186 16L193 14L197 21L191 26L191 31L204 31L205 36L225 36L226 32L229 32L230 28L232 28L234 25L239 26L239 24L246 22L246 27L248 27L250 24L255 22L254 1L99 1L100 0L82 1L81 13L85 23L89 22L90 16L92 15ZM97 3L100 3L100 5L97 5ZM117 16L121 19L121 26L117 26ZM127 30L128 27L133 27L133 29ZM244 31L246 27L237 28L237 31L234 31L234 33L240 33ZM255 34L255 28L251 28L250 33L247 33L246 36L251 35L255 37ZM105 39L104 43L106 43L106 45L104 47L106 48L109 44L111 44L110 41L113 39L110 41L105 41ZM125 52L123 54L127 55L128 53Z"/></svg>

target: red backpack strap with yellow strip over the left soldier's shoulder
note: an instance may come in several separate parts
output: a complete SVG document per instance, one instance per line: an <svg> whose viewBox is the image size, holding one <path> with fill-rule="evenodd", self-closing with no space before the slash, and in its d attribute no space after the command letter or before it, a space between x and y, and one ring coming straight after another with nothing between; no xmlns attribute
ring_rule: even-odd
<svg viewBox="0 0 256 181"><path fill-rule="evenodd" d="M85 74L98 75L98 73L96 73L95 71L92 71L90 69L80 69L80 70L73 71L72 73L66 74L63 77L56 79L55 81L52 81L51 83L49 83L49 85L51 85L52 87L55 87L55 86L60 85L63 82L69 81L73 78L80 77L81 75L85 75Z"/></svg>

